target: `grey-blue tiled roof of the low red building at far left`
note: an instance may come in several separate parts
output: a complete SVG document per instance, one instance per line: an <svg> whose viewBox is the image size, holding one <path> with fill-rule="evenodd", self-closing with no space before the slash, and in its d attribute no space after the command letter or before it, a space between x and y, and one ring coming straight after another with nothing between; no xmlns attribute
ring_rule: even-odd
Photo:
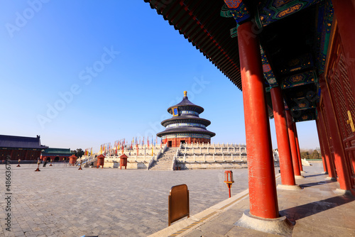
<svg viewBox="0 0 355 237"><path fill-rule="evenodd" d="M0 148L46 149L48 146L40 145L40 136L30 138L0 135Z"/></svg>

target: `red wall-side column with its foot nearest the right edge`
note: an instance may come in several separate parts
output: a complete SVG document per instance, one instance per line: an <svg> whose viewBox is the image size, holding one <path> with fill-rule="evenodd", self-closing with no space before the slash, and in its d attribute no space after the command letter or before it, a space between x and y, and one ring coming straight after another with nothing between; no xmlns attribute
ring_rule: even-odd
<svg viewBox="0 0 355 237"><path fill-rule="evenodd" d="M339 129L337 126L337 119L335 119L335 113L332 106L332 100L330 99L327 82L324 82L324 78L320 81L320 88L322 97L324 100L324 109L327 111L327 119L329 126L329 135L333 143L334 160L337 168L338 182L340 189L351 189L351 177L346 165L345 154L343 150L342 140L340 139Z"/></svg>

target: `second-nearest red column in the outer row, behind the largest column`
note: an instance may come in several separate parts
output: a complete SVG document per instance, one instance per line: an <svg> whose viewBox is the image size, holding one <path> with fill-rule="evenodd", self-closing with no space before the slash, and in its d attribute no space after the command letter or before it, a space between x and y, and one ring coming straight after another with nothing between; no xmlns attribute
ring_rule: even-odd
<svg viewBox="0 0 355 237"><path fill-rule="evenodd" d="M288 141L288 126L285 117L285 105L280 87L271 88L271 100L273 101L273 117L275 118L276 138L278 140L278 155L280 158L281 183L295 185L293 173L290 142Z"/></svg>

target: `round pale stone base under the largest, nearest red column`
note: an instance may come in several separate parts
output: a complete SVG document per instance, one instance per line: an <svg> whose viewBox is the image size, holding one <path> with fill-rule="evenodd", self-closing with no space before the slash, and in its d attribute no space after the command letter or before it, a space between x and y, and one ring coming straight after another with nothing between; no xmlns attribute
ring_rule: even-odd
<svg viewBox="0 0 355 237"><path fill-rule="evenodd" d="M256 231L273 233L280 236L292 236L293 224L288 221L286 216L275 219L265 219L250 214L250 210L244 211L241 219L234 223L234 226L251 228Z"/></svg>

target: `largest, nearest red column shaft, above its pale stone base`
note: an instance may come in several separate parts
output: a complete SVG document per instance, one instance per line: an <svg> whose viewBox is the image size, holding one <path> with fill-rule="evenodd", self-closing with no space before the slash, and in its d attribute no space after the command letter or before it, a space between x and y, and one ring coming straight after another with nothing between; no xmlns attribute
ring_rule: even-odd
<svg viewBox="0 0 355 237"><path fill-rule="evenodd" d="M279 214L270 124L266 109L260 45L252 28L253 23L250 21L238 28L248 150L250 213L261 218L275 219Z"/></svg>

